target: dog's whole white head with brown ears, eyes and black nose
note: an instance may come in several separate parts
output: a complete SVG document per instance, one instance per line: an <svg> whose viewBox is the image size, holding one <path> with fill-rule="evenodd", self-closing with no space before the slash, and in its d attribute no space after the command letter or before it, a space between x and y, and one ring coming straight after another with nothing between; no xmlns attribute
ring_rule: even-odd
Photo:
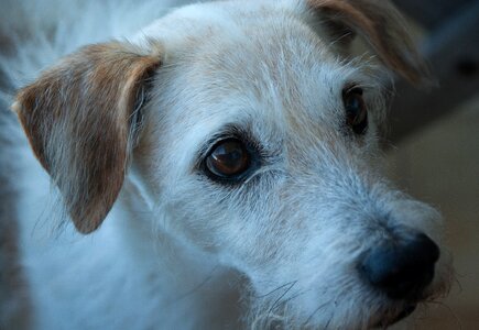
<svg viewBox="0 0 479 330"><path fill-rule="evenodd" d="M449 280L439 215L382 175L384 70L427 75L387 1L225 1L86 46L14 109L80 232L134 173L162 226L250 279L253 324L367 328Z"/></svg>

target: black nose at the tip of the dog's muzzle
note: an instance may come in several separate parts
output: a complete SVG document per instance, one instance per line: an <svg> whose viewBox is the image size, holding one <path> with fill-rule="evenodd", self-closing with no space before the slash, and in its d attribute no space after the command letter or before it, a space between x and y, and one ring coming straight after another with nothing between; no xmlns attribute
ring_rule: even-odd
<svg viewBox="0 0 479 330"><path fill-rule="evenodd" d="M392 299L417 298L433 280L439 249L425 234L372 249L359 264L360 273Z"/></svg>

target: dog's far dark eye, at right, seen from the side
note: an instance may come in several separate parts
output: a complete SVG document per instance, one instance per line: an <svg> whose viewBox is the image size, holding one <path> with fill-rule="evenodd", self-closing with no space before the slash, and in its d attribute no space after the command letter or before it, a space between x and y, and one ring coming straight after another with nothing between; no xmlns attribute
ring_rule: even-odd
<svg viewBox="0 0 479 330"><path fill-rule="evenodd" d="M362 89L349 88L342 92L346 110L346 123L358 135L364 134L368 128L368 109L362 98Z"/></svg>

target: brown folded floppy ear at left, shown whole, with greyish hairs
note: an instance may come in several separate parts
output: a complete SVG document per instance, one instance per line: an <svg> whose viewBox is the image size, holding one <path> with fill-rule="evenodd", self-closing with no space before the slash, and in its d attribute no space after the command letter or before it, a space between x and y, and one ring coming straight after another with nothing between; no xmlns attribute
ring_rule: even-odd
<svg viewBox="0 0 479 330"><path fill-rule="evenodd" d="M96 230L118 197L145 84L160 65L160 52L90 45L17 96L12 108L81 233Z"/></svg>

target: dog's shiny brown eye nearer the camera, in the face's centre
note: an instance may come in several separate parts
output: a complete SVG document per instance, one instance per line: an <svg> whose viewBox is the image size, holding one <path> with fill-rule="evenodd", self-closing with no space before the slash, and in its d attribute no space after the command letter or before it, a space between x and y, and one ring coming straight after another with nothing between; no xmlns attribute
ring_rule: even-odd
<svg viewBox="0 0 479 330"><path fill-rule="evenodd" d="M216 144L205 165L218 178L236 178L250 167L250 153L241 141L227 139Z"/></svg>

